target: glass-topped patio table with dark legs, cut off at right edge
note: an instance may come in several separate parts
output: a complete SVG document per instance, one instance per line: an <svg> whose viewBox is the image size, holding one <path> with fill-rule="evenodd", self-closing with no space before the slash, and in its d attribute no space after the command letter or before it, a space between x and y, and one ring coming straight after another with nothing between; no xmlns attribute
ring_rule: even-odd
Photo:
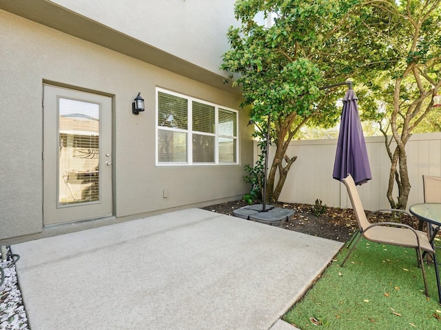
<svg viewBox="0 0 441 330"><path fill-rule="evenodd" d="M435 250L436 233L440 230L441 226L441 203L419 203L412 205L409 208L409 212L415 217L427 223L427 230L430 237L430 243L433 250ZM436 251L433 253L433 264L435 265L436 284L438 285L438 298L441 305L441 283L440 273L438 270L438 262L436 261Z"/></svg>

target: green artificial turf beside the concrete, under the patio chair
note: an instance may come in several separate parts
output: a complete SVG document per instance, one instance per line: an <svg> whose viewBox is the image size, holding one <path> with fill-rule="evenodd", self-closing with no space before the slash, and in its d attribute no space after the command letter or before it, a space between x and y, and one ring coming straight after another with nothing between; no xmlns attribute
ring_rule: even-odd
<svg viewBox="0 0 441 330"><path fill-rule="evenodd" d="M433 265L425 265L428 301L415 250L362 239L340 267L348 251L342 248L305 297L284 316L286 322L302 330L441 329Z"/></svg>

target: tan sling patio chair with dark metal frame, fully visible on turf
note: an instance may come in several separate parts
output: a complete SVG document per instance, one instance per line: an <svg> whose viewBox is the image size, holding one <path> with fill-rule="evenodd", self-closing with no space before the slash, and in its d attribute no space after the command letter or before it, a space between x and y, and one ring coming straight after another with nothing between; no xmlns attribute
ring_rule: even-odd
<svg viewBox="0 0 441 330"><path fill-rule="evenodd" d="M362 202L360 196L358 195L358 191L356 188L356 184L353 181L351 175L348 175L345 179L342 179L343 183L347 188L347 192L349 193L349 198L351 199L353 212L356 215L357 223L358 223L358 232L353 236L347 248L351 246L356 236L358 239L353 244L351 250L347 254L345 260L342 262L341 266L345 265L346 261L351 256L354 248L356 248L357 244L360 242L360 239L364 237L368 241L388 244L388 245L397 245L402 246L404 248L413 248L416 250L418 265L421 267L422 271L422 279L424 281L424 288L426 296L429 296L429 291L427 289L427 279L426 279L426 271L424 269L424 263L422 259L422 251L433 254L435 251L433 250L429 236L427 232L422 232L420 230L413 229L410 225L406 225L404 223L396 223L396 222L378 222L371 223L368 218L375 213L378 212L403 212L412 217L411 214L404 210L376 210L371 212L366 216L365 210L362 206Z"/></svg>

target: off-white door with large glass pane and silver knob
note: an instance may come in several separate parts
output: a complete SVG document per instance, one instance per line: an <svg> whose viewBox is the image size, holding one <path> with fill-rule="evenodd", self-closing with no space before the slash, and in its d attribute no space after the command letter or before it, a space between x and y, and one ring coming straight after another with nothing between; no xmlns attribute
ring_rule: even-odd
<svg viewBox="0 0 441 330"><path fill-rule="evenodd" d="M43 222L112 214L112 99L43 86Z"/></svg>

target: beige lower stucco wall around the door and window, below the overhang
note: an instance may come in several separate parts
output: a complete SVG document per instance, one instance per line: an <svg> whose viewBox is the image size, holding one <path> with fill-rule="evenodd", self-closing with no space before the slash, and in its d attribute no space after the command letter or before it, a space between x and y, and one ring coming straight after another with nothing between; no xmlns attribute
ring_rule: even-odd
<svg viewBox="0 0 441 330"><path fill-rule="evenodd" d="M155 87L238 109L240 97L0 10L0 239L43 230L43 83L113 97L114 214L125 217L242 195L252 163L240 111L240 164L155 166ZM132 115L141 91L146 109ZM168 198L163 198L168 190Z"/></svg>

